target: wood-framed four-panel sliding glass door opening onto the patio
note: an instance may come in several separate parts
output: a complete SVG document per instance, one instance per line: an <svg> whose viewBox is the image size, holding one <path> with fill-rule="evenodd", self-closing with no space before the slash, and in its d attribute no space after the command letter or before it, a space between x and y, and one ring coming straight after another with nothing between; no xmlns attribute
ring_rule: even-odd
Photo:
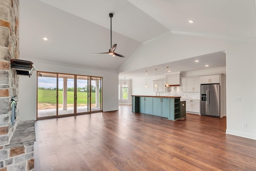
<svg viewBox="0 0 256 171"><path fill-rule="evenodd" d="M38 72L37 118L102 111L102 78Z"/></svg>

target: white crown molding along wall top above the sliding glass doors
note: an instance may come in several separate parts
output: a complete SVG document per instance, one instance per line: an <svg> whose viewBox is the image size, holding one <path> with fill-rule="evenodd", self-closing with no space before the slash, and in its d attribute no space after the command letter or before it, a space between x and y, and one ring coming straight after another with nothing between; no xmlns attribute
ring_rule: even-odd
<svg viewBox="0 0 256 171"><path fill-rule="evenodd" d="M116 72L115 70L106 70L102 68L92 68L92 67L86 67L86 66L80 66L80 65L71 65L71 64L64 64L64 63L58 63L58 62L50 62L50 61L43 61L43 60L36 60L36 59L28 59L28 58L20 58L20 60L27 60L27 61L35 61L35 62L41 62L45 64L55 64L55 65L60 65L60 66L69 66L69 67L74 67L74 68L83 68L83 69L88 69L88 70L100 70L100 71L106 71L106 72Z"/></svg>

